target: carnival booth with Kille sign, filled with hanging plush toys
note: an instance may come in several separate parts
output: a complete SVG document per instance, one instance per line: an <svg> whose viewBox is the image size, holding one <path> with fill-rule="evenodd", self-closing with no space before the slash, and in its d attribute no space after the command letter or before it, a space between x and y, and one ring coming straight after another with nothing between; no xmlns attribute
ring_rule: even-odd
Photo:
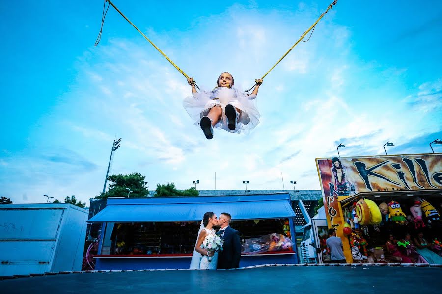
<svg viewBox="0 0 442 294"><path fill-rule="evenodd" d="M442 263L441 153L316 164L327 224L342 239L347 262Z"/></svg>

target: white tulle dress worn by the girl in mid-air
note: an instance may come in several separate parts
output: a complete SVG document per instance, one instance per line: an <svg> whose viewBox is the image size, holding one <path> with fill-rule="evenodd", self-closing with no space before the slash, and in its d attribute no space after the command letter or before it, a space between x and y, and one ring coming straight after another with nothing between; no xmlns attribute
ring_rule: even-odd
<svg viewBox="0 0 442 294"><path fill-rule="evenodd" d="M212 91L192 93L191 96L184 99L183 106L190 117L196 121L195 125L198 127L200 119L207 115L212 107L220 106L222 116L215 128L221 128L231 133L248 133L258 125L261 116L255 106L255 98L256 95L247 96L237 88L217 87ZM227 117L224 114L224 108L228 104L241 110L236 129L233 131L229 130Z"/></svg>

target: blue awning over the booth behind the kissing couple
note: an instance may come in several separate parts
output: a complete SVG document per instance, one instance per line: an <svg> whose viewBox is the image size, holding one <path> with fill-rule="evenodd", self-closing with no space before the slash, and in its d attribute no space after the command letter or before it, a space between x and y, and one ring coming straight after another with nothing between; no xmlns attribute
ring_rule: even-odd
<svg viewBox="0 0 442 294"><path fill-rule="evenodd" d="M108 199L89 222L200 221L207 211L227 212L234 220L293 218L288 193L260 196Z"/></svg>

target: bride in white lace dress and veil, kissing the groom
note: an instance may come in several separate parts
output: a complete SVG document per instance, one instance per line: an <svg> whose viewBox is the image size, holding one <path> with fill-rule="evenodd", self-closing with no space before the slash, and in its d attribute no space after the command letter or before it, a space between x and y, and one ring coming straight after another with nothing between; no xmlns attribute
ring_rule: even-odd
<svg viewBox="0 0 442 294"><path fill-rule="evenodd" d="M193 250L192 261L190 269L208 269L216 270L218 263L218 252L209 251L202 248L202 243L204 239L209 236L215 236L214 226L217 225L217 215L211 211L204 214L203 220L201 221L198 239L196 240L195 250ZM211 257L211 260L209 260Z"/></svg>

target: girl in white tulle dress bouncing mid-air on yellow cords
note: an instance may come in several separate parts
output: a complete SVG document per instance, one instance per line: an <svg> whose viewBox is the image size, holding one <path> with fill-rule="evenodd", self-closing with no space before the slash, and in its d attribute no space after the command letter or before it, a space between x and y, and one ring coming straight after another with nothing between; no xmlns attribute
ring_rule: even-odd
<svg viewBox="0 0 442 294"><path fill-rule="evenodd" d="M217 87L212 91L198 93L193 78L187 80L192 86L192 96L183 101L183 106L203 130L207 139L213 138L213 128L221 128L231 133L248 133L259 123L261 116L254 105L262 79L256 80L256 86L250 95L237 88L233 76L224 72L218 77Z"/></svg>

